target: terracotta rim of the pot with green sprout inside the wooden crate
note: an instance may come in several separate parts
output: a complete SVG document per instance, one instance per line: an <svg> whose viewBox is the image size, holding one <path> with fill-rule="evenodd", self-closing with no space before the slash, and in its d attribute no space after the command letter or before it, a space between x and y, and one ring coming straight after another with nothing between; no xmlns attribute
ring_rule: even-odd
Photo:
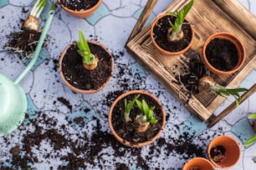
<svg viewBox="0 0 256 170"><path fill-rule="evenodd" d="M158 46L158 44L156 43L154 37L153 37L153 29L156 25L156 23L161 19L161 18L164 18L166 16L168 16L169 14L168 13L165 13L165 14L162 14L160 15L159 17L157 17L154 22L152 23L151 25L151 41L154 45L154 47L156 48L156 50L158 50L159 52L161 52L161 54L163 55L166 55L166 56L177 56L177 55L180 55L182 53L185 53L187 52L187 50L192 46L192 42L193 42L193 39L194 39L194 28L192 27L192 24L189 24L190 25L190 29L191 29L191 32L192 32L192 40L191 42L188 44L187 47L183 48L181 51L179 52L169 52L169 51L166 51L165 49L162 49L161 47ZM187 21L187 19L186 19ZM189 23L189 21L187 21ZM170 26L171 27L171 26ZM166 35L167 36L167 35Z"/></svg>

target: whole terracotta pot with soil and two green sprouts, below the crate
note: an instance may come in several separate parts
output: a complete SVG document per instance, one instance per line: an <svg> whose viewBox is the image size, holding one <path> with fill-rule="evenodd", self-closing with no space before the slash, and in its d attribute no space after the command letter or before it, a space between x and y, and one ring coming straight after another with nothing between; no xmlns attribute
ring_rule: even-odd
<svg viewBox="0 0 256 170"><path fill-rule="evenodd" d="M153 143L161 135L165 123L164 107L150 92L125 92L110 107L110 130L128 147L139 148Z"/></svg>

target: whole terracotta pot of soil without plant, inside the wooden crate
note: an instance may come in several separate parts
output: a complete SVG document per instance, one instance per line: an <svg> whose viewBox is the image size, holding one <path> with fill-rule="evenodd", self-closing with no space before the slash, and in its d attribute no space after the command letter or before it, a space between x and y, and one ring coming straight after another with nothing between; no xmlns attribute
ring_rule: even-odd
<svg viewBox="0 0 256 170"><path fill-rule="evenodd" d="M243 43L228 32L212 34L202 46L202 62L216 74L237 72L245 61Z"/></svg>

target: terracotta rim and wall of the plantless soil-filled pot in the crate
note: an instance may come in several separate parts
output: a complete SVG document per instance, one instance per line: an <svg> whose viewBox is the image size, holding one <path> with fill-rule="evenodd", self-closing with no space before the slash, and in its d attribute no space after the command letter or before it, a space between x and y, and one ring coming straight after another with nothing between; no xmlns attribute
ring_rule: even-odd
<svg viewBox="0 0 256 170"><path fill-rule="evenodd" d="M227 39L230 42L232 42L234 44L234 46L237 48L238 64L236 67L233 67L233 69L230 71L222 71L216 67L212 67L212 65L207 60L207 56L206 56L207 45L215 38ZM243 47L243 43L240 40L238 40L238 37L235 37L228 32L217 32L217 33L212 34L210 37L207 38L207 40L204 42L204 44L202 46L202 62L204 62L206 67L211 72L214 72L216 74L226 74L227 75L227 74L232 74L233 72L237 72L243 66L244 61L245 61L245 49Z"/></svg>

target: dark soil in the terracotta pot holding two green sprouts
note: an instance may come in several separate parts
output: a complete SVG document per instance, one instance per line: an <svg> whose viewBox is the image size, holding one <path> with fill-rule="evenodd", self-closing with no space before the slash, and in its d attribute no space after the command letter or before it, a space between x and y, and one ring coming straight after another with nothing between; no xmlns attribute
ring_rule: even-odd
<svg viewBox="0 0 256 170"><path fill-rule="evenodd" d="M131 102L137 94L131 94L127 97L127 102ZM113 128L115 129L115 132L120 135L121 138L124 138L126 141L130 142L131 144L136 143L143 143L146 141L150 141L151 138L154 138L156 136L156 133L158 133L161 130L161 124L162 124L162 114L161 114L161 106L159 106L156 101L144 94L141 94L141 96L138 98L140 101L142 99L145 99L146 103L149 107L155 106L154 109L154 116L158 122L151 123L149 128L144 133L138 132L136 129L139 127L139 123L130 121L125 122L123 117L123 114L125 112L124 107L124 101L125 98L122 98L120 102L117 102L114 109L113 109L113 115L112 115L112 123ZM139 107L136 106L136 104L132 107L130 117L131 120L135 120L136 116L141 113Z"/></svg>

